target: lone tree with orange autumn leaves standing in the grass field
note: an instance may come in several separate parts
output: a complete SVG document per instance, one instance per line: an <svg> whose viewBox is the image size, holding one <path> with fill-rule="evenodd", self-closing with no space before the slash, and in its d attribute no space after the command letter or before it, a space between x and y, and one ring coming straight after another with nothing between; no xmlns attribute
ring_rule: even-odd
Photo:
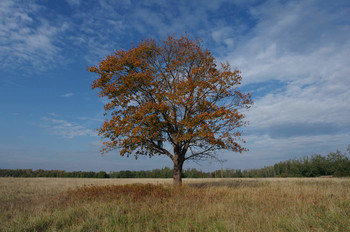
<svg viewBox="0 0 350 232"><path fill-rule="evenodd" d="M107 138L102 154L119 149L127 157L166 155L174 163L174 184L181 184L186 160L246 150L237 129L246 124L242 111L251 97L237 89L240 71L228 63L219 68L200 40L148 39L89 71L99 75L92 88L109 99L109 116L99 128Z"/></svg>

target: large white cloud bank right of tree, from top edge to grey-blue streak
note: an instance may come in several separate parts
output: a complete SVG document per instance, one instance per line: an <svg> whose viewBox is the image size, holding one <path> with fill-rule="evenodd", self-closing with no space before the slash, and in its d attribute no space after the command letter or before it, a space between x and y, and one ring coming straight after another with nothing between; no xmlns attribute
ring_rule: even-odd
<svg viewBox="0 0 350 232"><path fill-rule="evenodd" d="M243 70L244 84L285 84L255 101L248 114L252 126L350 124L344 117L350 113L350 39L344 39L350 27L342 18L349 9L327 10L318 3L269 1L251 9L258 24L228 59Z"/></svg>

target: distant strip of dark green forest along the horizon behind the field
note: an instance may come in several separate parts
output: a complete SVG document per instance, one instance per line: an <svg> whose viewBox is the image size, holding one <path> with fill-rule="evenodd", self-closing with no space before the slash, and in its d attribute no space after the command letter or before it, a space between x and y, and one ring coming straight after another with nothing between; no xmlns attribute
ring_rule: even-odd
<svg viewBox="0 0 350 232"><path fill-rule="evenodd" d="M348 148L350 154L350 146ZM319 177L350 176L350 159L346 153L331 152L290 159L261 169L221 169L203 172L186 169L183 178L259 178L259 177ZM165 167L152 171L66 172L61 170L0 169L0 177L74 177L74 178L172 178L172 169Z"/></svg>

